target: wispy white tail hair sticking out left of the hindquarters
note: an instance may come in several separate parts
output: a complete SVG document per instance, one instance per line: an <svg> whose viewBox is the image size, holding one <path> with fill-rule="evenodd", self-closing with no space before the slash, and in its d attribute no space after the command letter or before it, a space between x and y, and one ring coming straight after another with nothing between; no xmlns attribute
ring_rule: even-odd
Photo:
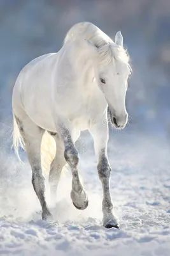
<svg viewBox="0 0 170 256"><path fill-rule="evenodd" d="M18 152L19 147L21 147L25 150L25 143L24 143L24 140L23 140L23 138L20 134L20 130L19 130L19 127L18 127L18 124L17 124L17 120L16 120L15 115L13 113L13 144L12 144L12 148L14 148L15 154L17 155L19 161L21 163L23 163L22 160L20 159L20 155L19 155L19 152Z"/></svg>

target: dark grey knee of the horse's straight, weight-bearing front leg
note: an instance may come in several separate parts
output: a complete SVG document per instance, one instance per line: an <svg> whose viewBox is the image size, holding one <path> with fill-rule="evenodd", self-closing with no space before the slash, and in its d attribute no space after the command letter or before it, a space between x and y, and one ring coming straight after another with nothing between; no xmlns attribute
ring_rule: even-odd
<svg viewBox="0 0 170 256"><path fill-rule="evenodd" d="M111 168L106 157L100 159L99 163L97 164L97 170L101 180L110 178Z"/></svg>

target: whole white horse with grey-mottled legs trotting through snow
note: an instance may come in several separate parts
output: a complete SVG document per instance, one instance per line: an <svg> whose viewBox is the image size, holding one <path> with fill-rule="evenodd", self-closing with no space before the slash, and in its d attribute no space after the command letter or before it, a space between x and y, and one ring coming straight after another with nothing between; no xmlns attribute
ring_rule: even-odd
<svg viewBox="0 0 170 256"><path fill-rule="evenodd" d="M48 131L56 142L49 182L55 198L62 168L73 175L71 199L77 209L88 206L78 174L78 151L74 143L88 129L94 139L97 170L103 186L103 225L118 228L110 195L108 122L117 128L127 124L125 95L131 72L120 31L111 40L90 22L75 24L59 52L32 60L20 72L12 95L13 146L25 147L32 168L32 185L42 207L42 218L52 218L46 204L41 166L41 140Z"/></svg>

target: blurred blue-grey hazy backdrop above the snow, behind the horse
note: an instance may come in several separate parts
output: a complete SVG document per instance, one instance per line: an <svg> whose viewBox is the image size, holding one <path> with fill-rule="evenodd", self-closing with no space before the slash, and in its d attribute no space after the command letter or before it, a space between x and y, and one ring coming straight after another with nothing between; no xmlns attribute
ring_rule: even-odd
<svg viewBox="0 0 170 256"><path fill-rule="evenodd" d="M125 131L111 132L110 140L114 138L120 153L118 147L110 151L116 157L131 145L134 151L141 147L140 152L150 154L148 145L159 140L161 144L151 150L159 157L162 148L169 147L169 0L0 0L1 174L13 157L11 92L18 73L33 58L59 51L68 29L81 21L93 22L113 40L121 30L131 56L133 73L127 92L131 121ZM84 140L83 147L89 145ZM159 162L157 157L148 159Z"/></svg>

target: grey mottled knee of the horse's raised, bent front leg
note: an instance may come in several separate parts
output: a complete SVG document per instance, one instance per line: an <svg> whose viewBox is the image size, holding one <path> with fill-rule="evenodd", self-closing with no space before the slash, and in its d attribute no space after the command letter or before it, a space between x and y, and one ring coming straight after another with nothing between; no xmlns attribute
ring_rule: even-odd
<svg viewBox="0 0 170 256"><path fill-rule="evenodd" d="M66 147L64 150L64 157L67 163L73 167L76 167L79 162L78 151L74 147Z"/></svg>

